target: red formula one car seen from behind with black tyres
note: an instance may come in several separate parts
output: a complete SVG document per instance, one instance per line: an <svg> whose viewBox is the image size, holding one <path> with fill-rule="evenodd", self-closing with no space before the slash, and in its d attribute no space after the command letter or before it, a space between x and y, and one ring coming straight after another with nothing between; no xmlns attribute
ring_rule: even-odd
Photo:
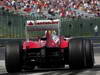
<svg viewBox="0 0 100 75"><path fill-rule="evenodd" d="M91 40L85 38L67 38L60 35L60 20L29 20L25 26L26 40L22 43L10 42L6 45L5 64L7 72L22 69L92 68L94 52ZM57 31L58 35L55 34ZM30 40L29 31L45 31L44 37Z"/></svg>

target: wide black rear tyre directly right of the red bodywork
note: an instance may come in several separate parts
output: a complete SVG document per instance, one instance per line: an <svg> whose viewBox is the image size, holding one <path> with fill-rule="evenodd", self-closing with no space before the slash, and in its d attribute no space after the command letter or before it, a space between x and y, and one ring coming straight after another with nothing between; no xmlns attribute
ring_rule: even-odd
<svg viewBox="0 0 100 75"><path fill-rule="evenodd" d="M85 66L83 40L74 38L69 41L69 67L71 69L82 69Z"/></svg>

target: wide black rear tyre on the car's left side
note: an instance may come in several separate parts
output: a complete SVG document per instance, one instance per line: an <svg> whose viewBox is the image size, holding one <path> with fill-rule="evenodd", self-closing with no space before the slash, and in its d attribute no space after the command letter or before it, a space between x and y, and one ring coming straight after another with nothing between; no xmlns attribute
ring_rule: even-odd
<svg viewBox="0 0 100 75"><path fill-rule="evenodd" d="M20 46L18 43L6 45L5 64L7 72L19 72L21 70Z"/></svg>

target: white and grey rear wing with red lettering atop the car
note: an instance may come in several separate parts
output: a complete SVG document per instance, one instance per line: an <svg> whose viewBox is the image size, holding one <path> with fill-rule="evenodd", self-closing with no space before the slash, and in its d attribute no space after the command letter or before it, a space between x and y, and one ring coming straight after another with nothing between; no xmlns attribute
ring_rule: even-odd
<svg viewBox="0 0 100 75"><path fill-rule="evenodd" d="M28 20L26 22L28 31L44 31L44 30L58 30L60 27L60 19L55 20Z"/></svg>

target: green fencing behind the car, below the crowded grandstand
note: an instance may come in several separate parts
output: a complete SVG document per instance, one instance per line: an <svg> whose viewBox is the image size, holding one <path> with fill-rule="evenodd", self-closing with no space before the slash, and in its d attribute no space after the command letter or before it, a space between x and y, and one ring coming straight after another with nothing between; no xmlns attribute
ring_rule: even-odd
<svg viewBox="0 0 100 75"><path fill-rule="evenodd" d="M27 20L42 20L45 17L22 16L0 10L0 38L25 38L25 23ZM60 18L60 33L64 36L95 36L95 26L98 26L100 36L100 17L96 18ZM43 35L43 32L30 33L32 36Z"/></svg>

